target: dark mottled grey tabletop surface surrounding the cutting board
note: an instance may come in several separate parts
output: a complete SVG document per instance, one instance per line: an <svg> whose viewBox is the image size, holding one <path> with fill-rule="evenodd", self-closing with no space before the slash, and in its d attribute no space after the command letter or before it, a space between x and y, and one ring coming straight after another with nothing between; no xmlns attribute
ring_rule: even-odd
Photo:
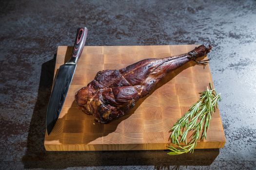
<svg viewBox="0 0 256 170"><path fill-rule="evenodd" d="M43 137L57 47L210 42L226 145L167 151L45 152ZM255 169L256 0L1 0L0 169ZM94 167L96 166L96 167Z"/></svg>

